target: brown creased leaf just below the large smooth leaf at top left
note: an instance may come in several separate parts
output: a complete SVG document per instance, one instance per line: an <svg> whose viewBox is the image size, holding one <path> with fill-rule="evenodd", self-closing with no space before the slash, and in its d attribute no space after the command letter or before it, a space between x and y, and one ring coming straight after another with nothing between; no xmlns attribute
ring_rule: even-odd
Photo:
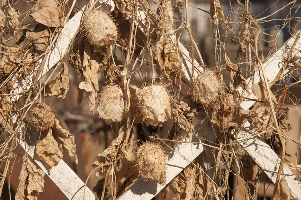
<svg viewBox="0 0 301 200"><path fill-rule="evenodd" d="M47 27L44 27L42 30L37 30L34 32L27 31L26 37L29 40L32 40L34 43L34 48L38 51L46 51L49 45L49 36L50 31Z"/></svg>

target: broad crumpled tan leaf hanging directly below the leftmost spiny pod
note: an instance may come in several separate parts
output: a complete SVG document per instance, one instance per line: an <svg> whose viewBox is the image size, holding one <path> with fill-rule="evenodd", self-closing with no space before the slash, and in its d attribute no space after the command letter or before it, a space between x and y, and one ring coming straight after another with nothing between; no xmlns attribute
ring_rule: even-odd
<svg viewBox="0 0 301 200"><path fill-rule="evenodd" d="M48 130L45 138L37 142L36 155L44 161L49 170L63 158L59 143L52 135L52 129Z"/></svg>

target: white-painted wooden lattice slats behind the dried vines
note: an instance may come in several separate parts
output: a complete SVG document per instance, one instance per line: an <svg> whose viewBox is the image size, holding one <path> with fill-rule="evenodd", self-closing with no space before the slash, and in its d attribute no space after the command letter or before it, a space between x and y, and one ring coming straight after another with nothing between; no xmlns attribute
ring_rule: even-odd
<svg viewBox="0 0 301 200"><path fill-rule="evenodd" d="M114 9L114 4L112 1L108 2L111 6L112 10ZM47 66L45 66L43 75L46 74L49 69L51 69L60 59L61 55L64 55L67 47L69 46L79 24L80 19L82 17L82 10L77 13L69 22L67 22L62 30L61 37L58 39L58 46L54 49L54 51L50 54L49 62L47 62ZM139 15L141 18L143 13ZM140 22L143 22L144 19L140 19ZM268 75L269 81L272 81L278 72L281 70L281 62L283 58L283 52L287 47L291 47L294 38L290 38L288 42L283 45L274 55L272 55L264 64L265 70ZM184 54L183 70L186 73L190 73L186 78L190 79L192 77L192 64L191 59L189 58L189 52L184 48L184 46L178 42L179 47L181 48L182 53ZM300 52L300 40L296 45L295 52ZM194 60L194 63L196 61ZM197 64L198 65L198 64ZM194 72L197 75L197 71ZM33 74L34 75L34 74ZM41 77L42 77L41 76ZM255 77L249 78L249 86L252 83L258 82L258 79ZM190 79L191 81L191 79ZM20 87L18 85L17 89L14 93L22 92L27 90L31 84L22 84L24 87ZM18 99L20 95L14 96L14 99ZM243 102L242 108L249 108L253 102ZM267 174L267 176L275 182L278 166L280 162L280 158L276 155L276 153L263 141L260 137L256 136L252 139L244 140L246 136L249 136L250 132L252 134L257 134L255 131L250 131L250 125L246 123L245 130L238 133L238 142L239 144L246 150L246 152L254 159L254 161L262 168L262 170ZM214 133L206 132L206 130L198 131L196 133L199 137L204 137L207 135L207 139L213 141L215 139ZM195 138L192 138L195 140ZM191 139L191 140L192 140ZM190 141L191 141L190 140ZM29 155L33 156L33 147L26 146L25 143L21 142L21 145L25 150L28 150ZM177 176L186 166L190 164L200 153L204 151L204 145L201 143L196 145L192 143L179 143L175 148L175 152L171 152L170 155L173 155L168 159L167 162L167 183L169 183L175 176ZM68 167L63 160L59 162L58 165L54 166L50 173L43 167L43 164L39 161L38 158L34 158L35 162L46 172L46 174L54 181L54 183L63 191L68 199L82 199L83 196L83 187L84 183L80 180L80 178ZM286 175L286 180L288 185L290 186L293 195L296 198L301 199L301 189L299 186L299 182L295 181L295 176L293 173L287 168L284 168L284 173ZM144 182L139 179L136 181L129 190L127 190L119 199L151 199L156 194L158 194L163 186L157 185L156 183ZM96 199L93 193L87 188L85 199Z"/></svg>

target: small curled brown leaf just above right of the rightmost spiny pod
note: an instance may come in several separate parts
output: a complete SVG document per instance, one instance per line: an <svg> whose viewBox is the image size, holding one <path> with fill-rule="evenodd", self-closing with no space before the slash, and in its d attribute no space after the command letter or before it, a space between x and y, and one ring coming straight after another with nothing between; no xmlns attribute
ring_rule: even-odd
<svg viewBox="0 0 301 200"><path fill-rule="evenodd" d="M230 90L233 93L236 93L236 87L239 85L243 85L244 88L246 88L246 79L242 76L240 68L231 62L230 58L225 54L225 65L226 65L226 70L230 71Z"/></svg>

